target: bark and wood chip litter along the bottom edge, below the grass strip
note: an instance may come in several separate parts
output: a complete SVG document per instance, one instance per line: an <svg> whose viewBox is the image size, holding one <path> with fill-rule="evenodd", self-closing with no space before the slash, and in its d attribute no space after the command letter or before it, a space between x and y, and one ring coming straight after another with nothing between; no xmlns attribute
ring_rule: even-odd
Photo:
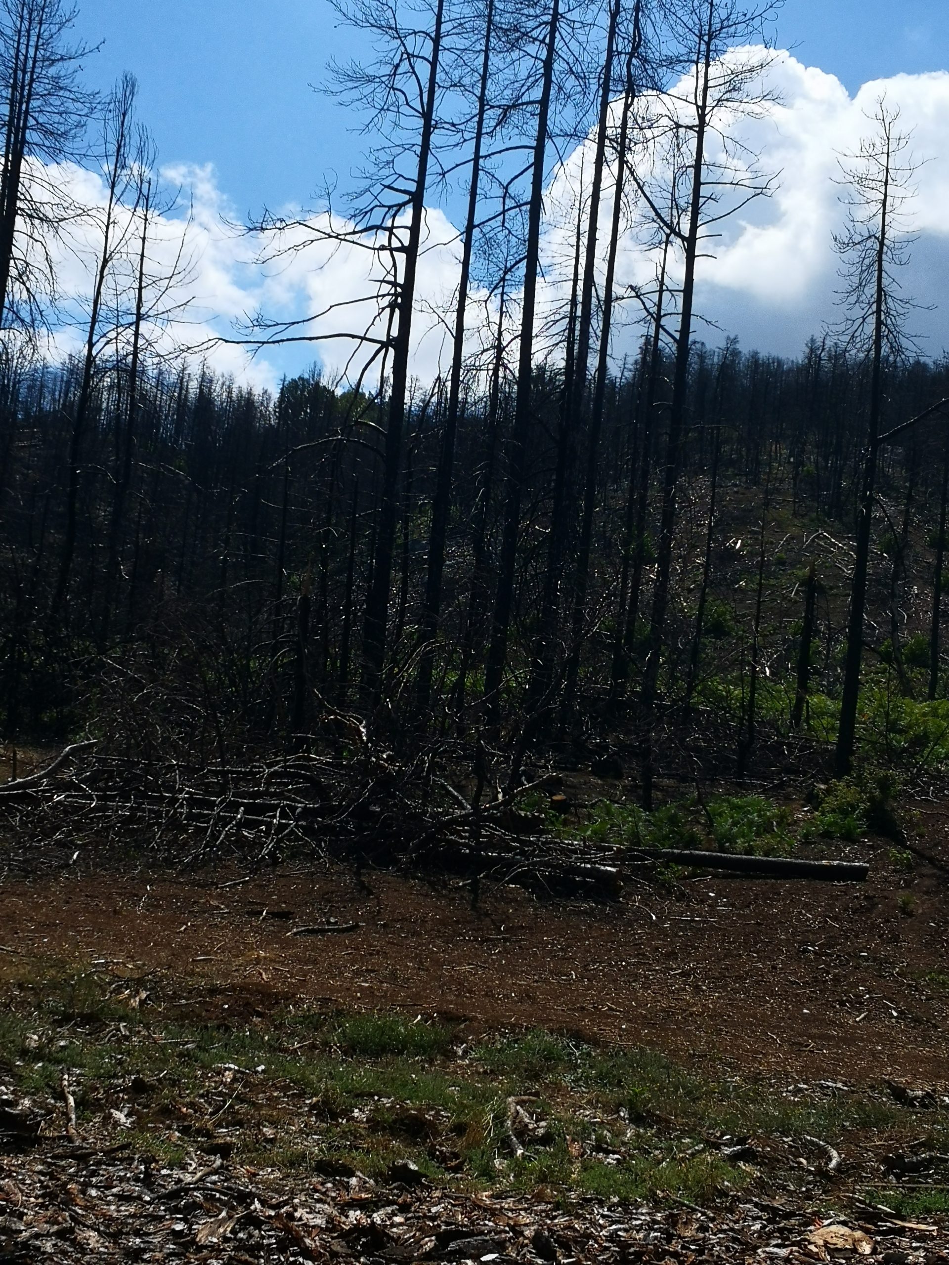
<svg viewBox="0 0 949 1265"><path fill-rule="evenodd" d="M857 1260L948 1262L935 1227L881 1217L814 1225L809 1208L735 1198L729 1207L554 1202L534 1194L464 1194L401 1168L385 1182L302 1179L277 1170L187 1161L180 1171L127 1152L0 1155L0 1260L485 1261L524 1265L735 1265ZM920 1242L925 1240L925 1243ZM884 1255L886 1254L886 1255Z"/></svg>

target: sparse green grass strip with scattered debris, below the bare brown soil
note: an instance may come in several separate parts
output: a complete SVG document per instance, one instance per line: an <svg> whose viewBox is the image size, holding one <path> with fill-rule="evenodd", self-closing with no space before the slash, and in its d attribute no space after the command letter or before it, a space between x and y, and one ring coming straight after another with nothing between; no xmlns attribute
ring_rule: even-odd
<svg viewBox="0 0 949 1265"><path fill-rule="evenodd" d="M852 1155L854 1137L892 1136L897 1150L922 1123L884 1094L791 1097L543 1030L472 1042L394 1013L195 1022L182 1017L195 1009L183 988L171 1001L158 985L143 997L140 983L96 972L24 977L0 1011L0 1077L58 1120L68 1068L80 1132L113 1128L166 1166L221 1146L244 1164L324 1176L383 1179L411 1160L462 1189L620 1200L709 1204L764 1189L764 1170L729 1161L717 1140L753 1138L777 1154L820 1137ZM516 1147L512 1101L529 1120ZM132 1127L110 1125L113 1111ZM924 1127L934 1150L949 1149L945 1111L926 1112Z"/></svg>

